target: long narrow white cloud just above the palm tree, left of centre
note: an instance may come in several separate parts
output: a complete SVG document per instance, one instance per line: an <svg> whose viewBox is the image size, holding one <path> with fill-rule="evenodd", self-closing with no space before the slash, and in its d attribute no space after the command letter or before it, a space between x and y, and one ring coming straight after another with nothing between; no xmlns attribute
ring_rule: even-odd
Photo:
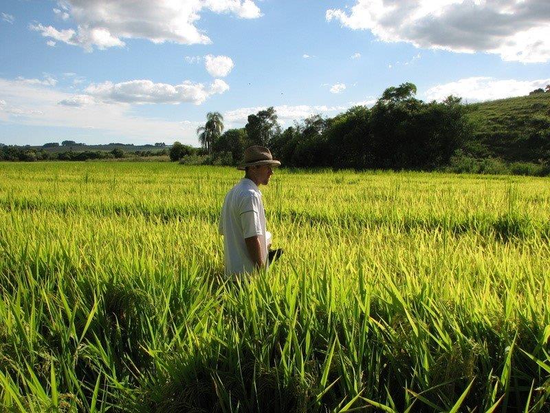
<svg viewBox="0 0 550 413"><path fill-rule="evenodd" d="M221 79L205 87L202 83L185 81L179 85L153 83L149 80L135 80L121 83L92 83L85 93L104 102L120 103L183 103L200 105L213 94L222 94L229 86Z"/></svg>

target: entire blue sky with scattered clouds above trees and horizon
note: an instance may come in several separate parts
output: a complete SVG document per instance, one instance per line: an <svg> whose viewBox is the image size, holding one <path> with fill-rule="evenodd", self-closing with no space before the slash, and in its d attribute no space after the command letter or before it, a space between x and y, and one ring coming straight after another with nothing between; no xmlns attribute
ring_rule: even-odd
<svg viewBox="0 0 550 413"><path fill-rule="evenodd" d="M198 146L207 112L520 96L549 62L547 0L1 0L0 142Z"/></svg>

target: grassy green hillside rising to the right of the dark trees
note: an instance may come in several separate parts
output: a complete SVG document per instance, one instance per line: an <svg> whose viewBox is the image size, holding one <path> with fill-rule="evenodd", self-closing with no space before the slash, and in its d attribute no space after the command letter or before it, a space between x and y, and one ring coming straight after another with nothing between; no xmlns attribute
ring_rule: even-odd
<svg viewBox="0 0 550 413"><path fill-rule="evenodd" d="M467 105L474 136L467 151L509 162L550 158L550 92Z"/></svg>

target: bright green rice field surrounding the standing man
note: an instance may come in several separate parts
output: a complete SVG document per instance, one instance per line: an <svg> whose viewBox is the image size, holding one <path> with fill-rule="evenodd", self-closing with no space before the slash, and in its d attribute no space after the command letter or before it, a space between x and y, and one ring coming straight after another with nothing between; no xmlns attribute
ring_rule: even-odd
<svg viewBox="0 0 550 413"><path fill-rule="evenodd" d="M548 178L0 163L1 412L548 412Z"/></svg>

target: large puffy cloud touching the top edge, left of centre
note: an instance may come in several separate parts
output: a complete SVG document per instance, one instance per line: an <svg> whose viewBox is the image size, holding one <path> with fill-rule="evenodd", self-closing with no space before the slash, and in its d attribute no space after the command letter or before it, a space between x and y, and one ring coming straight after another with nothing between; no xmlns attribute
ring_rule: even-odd
<svg viewBox="0 0 550 413"><path fill-rule="evenodd" d="M252 0L58 0L54 9L61 19L71 18L75 29L57 30L32 24L45 37L78 45L91 52L94 47L123 46L123 39L148 39L153 43L208 44L210 39L196 23L203 10L231 13L242 19L261 17Z"/></svg>

